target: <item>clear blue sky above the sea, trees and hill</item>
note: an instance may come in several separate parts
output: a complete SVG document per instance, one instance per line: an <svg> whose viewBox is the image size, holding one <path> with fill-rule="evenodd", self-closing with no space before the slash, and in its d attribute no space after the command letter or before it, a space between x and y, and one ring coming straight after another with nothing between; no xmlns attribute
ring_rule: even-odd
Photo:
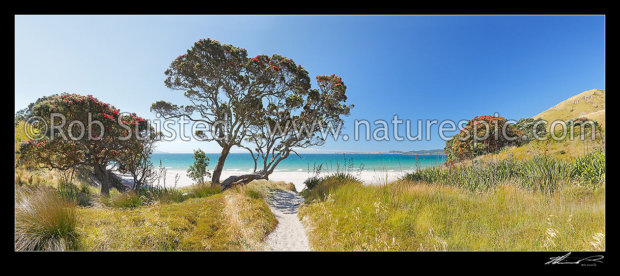
<svg viewBox="0 0 620 276"><path fill-rule="evenodd" d="M495 112L518 120L605 89L604 34L604 16L15 16L15 110L74 92L154 118L156 100L186 102L164 86L170 61L209 37L341 76L355 104L351 137L354 120L394 115L412 126ZM430 141L332 140L302 152L443 148L436 129ZM219 152L201 141L160 149L199 147Z"/></svg>

